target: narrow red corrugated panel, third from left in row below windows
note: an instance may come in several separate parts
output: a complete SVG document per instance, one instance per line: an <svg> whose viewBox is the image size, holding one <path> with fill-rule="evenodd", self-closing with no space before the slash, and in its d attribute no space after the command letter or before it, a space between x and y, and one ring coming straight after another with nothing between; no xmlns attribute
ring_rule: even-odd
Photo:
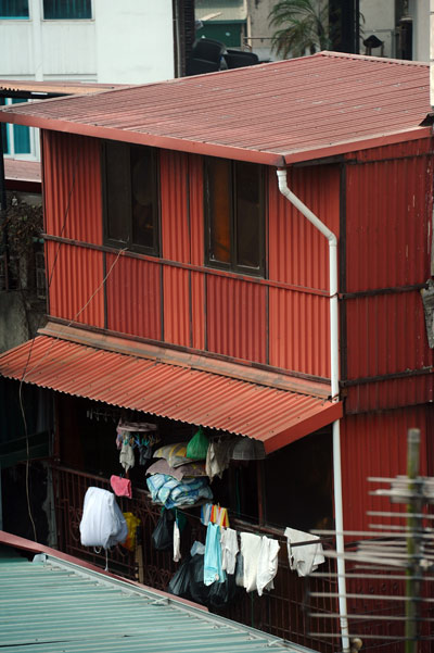
<svg viewBox="0 0 434 653"><path fill-rule="evenodd" d="M191 346L190 336L190 273L165 265L164 288L164 340L183 347Z"/></svg>

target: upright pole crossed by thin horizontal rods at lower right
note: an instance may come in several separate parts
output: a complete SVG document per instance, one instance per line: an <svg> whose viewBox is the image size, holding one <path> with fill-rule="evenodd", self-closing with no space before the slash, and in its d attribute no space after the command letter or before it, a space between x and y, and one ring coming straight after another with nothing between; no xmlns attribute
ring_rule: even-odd
<svg viewBox="0 0 434 653"><path fill-rule="evenodd" d="M408 566L406 569L406 653L417 653L418 650L418 616L420 597L420 531L422 519L421 488L414 481L419 476L420 430L410 428L407 434L407 477L410 497L407 503L407 537Z"/></svg>

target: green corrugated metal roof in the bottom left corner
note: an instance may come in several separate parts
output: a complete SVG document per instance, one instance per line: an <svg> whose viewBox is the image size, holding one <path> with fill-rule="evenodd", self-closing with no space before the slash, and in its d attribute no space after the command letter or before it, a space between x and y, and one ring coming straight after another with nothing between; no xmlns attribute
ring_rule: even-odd
<svg viewBox="0 0 434 653"><path fill-rule="evenodd" d="M0 549L2 651L312 653L162 592L42 554Z"/></svg>

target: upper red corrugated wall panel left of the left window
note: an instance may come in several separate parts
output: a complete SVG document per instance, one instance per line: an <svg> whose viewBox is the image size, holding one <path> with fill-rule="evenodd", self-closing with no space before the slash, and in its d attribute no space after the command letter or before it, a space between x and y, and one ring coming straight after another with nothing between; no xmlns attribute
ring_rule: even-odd
<svg viewBox="0 0 434 653"><path fill-rule="evenodd" d="M47 234L102 244L100 141L42 131Z"/></svg>

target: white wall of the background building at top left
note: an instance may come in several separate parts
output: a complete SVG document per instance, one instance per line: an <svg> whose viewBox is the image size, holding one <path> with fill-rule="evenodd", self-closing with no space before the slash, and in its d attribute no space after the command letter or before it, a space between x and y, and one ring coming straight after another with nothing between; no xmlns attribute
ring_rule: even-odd
<svg viewBox="0 0 434 653"><path fill-rule="evenodd" d="M92 18L0 21L0 77L144 84L174 77L171 0L93 0Z"/></svg>

